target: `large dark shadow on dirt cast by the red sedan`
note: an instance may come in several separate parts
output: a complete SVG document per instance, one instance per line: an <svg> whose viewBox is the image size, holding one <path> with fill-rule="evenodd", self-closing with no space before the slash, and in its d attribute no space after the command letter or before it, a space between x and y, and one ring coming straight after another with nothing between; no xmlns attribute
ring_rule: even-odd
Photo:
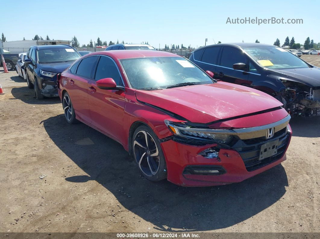
<svg viewBox="0 0 320 239"><path fill-rule="evenodd" d="M68 124L63 114L42 123L60 150L88 174L68 177L66 183L96 180L126 209L153 223L158 230L230 227L273 205L288 186L282 165L225 186L186 188L166 180L150 182L140 175L124 148L100 132L83 123Z"/></svg>

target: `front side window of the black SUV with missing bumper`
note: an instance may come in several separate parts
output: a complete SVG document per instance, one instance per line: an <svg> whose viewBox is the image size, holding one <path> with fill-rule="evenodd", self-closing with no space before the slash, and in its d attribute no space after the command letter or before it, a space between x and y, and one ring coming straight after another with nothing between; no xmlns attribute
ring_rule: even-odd
<svg viewBox="0 0 320 239"><path fill-rule="evenodd" d="M235 63L246 63L247 57L239 49L224 47L222 49L222 55L220 60L220 66L233 69Z"/></svg>

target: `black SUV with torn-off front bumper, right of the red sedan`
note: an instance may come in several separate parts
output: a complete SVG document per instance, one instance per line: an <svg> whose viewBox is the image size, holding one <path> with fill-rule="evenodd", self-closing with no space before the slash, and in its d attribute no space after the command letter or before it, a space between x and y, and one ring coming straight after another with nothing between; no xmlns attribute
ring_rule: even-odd
<svg viewBox="0 0 320 239"><path fill-rule="evenodd" d="M277 46L215 44L189 58L217 80L249 86L274 96L292 115L320 116L320 68Z"/></svg>

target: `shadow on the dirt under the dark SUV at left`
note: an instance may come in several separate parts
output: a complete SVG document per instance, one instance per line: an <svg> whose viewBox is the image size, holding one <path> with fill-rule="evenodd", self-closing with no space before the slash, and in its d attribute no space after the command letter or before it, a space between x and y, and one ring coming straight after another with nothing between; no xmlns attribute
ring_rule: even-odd
<svg viewBox="0 0 320 239"><path fill-rule="evenodd" d="M23 80L23 79L21 78L21 80ZM26 85L27 85L27 83L26 83ZM11 93L14 98L11 98L9 100L19 99L27 104L50 105L50 104L61 103L59 97L50 97L50 98L44 97L43 100L37 100L35 98L34 89L29 89L28 86L12 88Z"/></svg>

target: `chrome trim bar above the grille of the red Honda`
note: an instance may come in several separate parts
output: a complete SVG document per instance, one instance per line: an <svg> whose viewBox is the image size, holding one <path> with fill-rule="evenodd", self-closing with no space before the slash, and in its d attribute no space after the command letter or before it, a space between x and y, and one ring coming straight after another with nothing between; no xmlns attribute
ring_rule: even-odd
<svg viewBox="0 0 320 239"><path fill-rule="evenodd" d="M251 139L251 138L260 138L266 135L266 130L270 128L275 128L275 133L282 130L286 127L291 119L291 116L288 114L282 120L279 120L275 123L251 127L251 128L242 128L242 129L234 129L234 130L218 130L218 129L196 129L196 128L185 128L177 126L173 123L172 126L179 130L184 131L192 131L192 132L203 132L203 133L211 133L211 134L231 134L238 136L240 139Z"/></svg>

